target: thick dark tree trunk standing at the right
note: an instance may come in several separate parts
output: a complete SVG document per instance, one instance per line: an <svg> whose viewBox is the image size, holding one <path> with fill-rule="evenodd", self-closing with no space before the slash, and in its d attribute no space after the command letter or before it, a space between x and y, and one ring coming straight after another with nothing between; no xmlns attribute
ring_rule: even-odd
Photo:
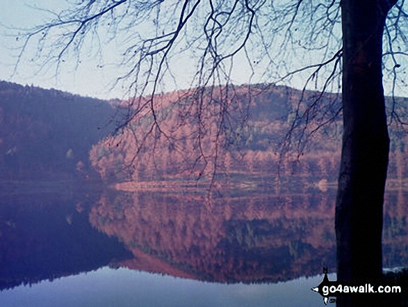
<svg viewBox="0 0 408 307"><path fill-rule="evenodd" d="M338 281L382 276L382 210L389 155L382 35L392 2L341 1L344 132L336 198ZM368 301L361 305L361 299L338 300L337 306L367 306Z"/></svg>

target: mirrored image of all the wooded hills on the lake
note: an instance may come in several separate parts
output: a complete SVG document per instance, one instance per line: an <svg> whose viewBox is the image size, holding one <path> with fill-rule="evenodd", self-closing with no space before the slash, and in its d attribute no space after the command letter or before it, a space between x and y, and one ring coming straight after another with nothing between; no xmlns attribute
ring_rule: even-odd
<svg viewBox="0 0 408 307"><path fill-rule="evenodd" d="M15 288L22 283L106 265L122 267L115 283L131 269L215 281L215 288L315 276L323 266L334 270L332 194L206 196L153 191L2 196L0 301L22 291ZM405 194L388 194L386 204L384 267L407 266ZM104 270L97 278L111 283ZM83 287L81 278L75 279L77 287ZM159 285L164 277L154 278ZM180 280L185 279L172 279ZM198 281L195 285L202 284Z"/></svg>

